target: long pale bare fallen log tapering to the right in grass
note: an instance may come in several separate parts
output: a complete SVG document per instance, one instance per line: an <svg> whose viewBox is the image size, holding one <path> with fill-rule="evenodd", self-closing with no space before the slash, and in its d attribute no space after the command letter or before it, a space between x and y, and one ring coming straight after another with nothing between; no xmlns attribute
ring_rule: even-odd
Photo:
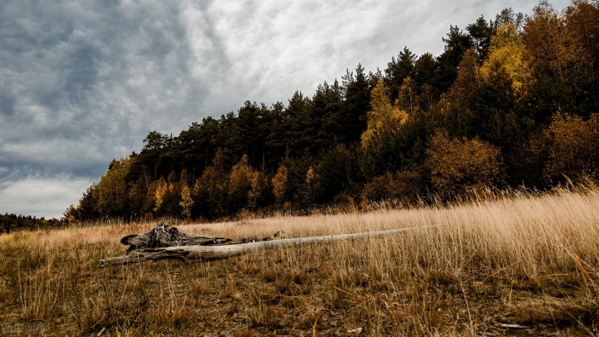
<svg viewBox="0 0 599 337"><path fill-rule="evenodd" d="M164 248L148 248L134 250L128 255L119 257L107 258L100 260L101 267L118 266L120 264L134 264L141 263L143 261L150 260L220 260L223 258L234 257L237 255L246 254L247 252L257 251L261 249L276 248L282 246L293 246L293 245L307 245L316 242L331 242L335 240L353 239L356 237L365 236L381 236L388 234L401 233L410 230L420 230L424 228L431 228L436 226L420 226L420 227L409 227L400 228L394 230L383 230L383 231L371 231L365 233L355 234L341 234L341 235L325 235L325 236L311 236L311 237L297 237L294 239L281 239L281 240L268 240L251 243L240 243L237 245L223 245L223 246L201 246L201 245L190 245L190 246L171 246Z"/></svg>

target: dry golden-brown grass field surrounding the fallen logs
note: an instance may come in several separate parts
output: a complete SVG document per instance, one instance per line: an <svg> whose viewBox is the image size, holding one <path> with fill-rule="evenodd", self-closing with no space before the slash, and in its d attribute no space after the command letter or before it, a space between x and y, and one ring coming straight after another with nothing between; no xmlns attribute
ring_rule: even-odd
<svg viewBox="0 0 599 337"><path fill-rule="evenodd" d="M451 206L180 225L232 239L279 230L301 237L438 226L220 261L98 268L101 258L125 254L120 237L153 225L0 236L2 333L599 333L596 187L506 192Z"/></svg>

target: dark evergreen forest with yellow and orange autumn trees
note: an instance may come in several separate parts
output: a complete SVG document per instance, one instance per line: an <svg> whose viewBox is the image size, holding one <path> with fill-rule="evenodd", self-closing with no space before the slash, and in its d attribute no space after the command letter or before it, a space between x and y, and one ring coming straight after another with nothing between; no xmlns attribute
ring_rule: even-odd
<svg viewBox="0 0 599 337"><path fill-rule="evenodd" d="M311 97L152 131L63 221L407 206L599 179L599 2L508 8L443 41L441 55L405 47Z"/></svg>

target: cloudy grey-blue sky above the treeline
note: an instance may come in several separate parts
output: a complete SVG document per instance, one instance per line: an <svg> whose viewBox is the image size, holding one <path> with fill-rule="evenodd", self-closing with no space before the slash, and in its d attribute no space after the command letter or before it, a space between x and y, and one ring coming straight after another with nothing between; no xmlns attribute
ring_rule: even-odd
<svg viewBox="0 0 599 337"><path fill-rule="evenodd" d="M568 1L553 0L562 10ZM60 218L113 158L246 100L287 103L534 0L0 1L0 213Z"/></svg>

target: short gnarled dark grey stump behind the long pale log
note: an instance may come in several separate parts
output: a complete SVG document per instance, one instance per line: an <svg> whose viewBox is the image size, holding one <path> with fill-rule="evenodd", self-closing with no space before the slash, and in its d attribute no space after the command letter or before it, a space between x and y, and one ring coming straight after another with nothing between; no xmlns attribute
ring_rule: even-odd
<svg viewBox="0 0 599 337"><path fill-rule="evenodd" d="M152 230L143 234L133 234L123 237L120 243L123 245L130 245L127 249L127 254L134 249L140 248L159 248L159 247L171 247L171 246L191 246L191 245L217 245L219 243L229 242L231 239L225 239L223 237L212 237L205 235L195 235L182 233L177 227L171 227L170 225L159 224L152 228Z"/></svg>

